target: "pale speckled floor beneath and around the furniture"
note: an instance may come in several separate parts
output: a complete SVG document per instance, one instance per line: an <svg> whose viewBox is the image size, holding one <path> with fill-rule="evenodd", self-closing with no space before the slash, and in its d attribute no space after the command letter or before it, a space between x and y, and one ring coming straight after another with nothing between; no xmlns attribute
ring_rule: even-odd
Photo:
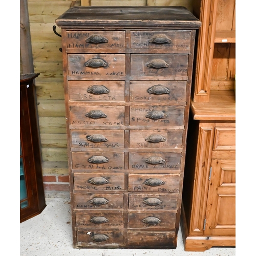
<svg viewBox="0 0 256 256"><path fill-rule="evenodd" d="M48 195L49 196L49 195ZM20 256L232 256L236 248L210 248L205 252L184 251L181 230L178 233L178 246L172 250L145 249L74 249L70 199L64 195L46 197L46 208L40 215L20 223Z"/></svg>

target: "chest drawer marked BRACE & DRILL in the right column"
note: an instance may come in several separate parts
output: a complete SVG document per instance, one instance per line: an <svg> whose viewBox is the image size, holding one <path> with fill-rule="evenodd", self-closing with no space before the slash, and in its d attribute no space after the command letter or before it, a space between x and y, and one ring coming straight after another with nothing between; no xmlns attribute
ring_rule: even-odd
<svg viewBox="0 0 256 256"><path fill-rule="evenodd" d="M180 153L129 153L129 168L133 170L180 170Z"/></svg>

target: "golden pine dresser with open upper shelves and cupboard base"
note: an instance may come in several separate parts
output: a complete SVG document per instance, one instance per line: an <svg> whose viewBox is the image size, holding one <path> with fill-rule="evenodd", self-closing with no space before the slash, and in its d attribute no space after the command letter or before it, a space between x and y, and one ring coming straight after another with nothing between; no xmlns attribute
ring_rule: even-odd
<svg viewBox="0 0 256 256"><path fill-rule="evenodd" d="M194 4L202 27L190 100L181 229L186 251L205 251L236 245L236 3Z"/></svg>

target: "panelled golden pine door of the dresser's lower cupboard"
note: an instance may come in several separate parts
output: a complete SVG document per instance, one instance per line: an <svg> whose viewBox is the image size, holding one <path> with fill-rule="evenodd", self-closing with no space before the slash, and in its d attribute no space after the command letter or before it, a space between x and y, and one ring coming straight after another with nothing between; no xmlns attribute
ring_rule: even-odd
<svg viewBox="0 0 256 256"><path fill-rule="evenodd" d="M236 160L212 159L206 236L236 235Z"/></svg>

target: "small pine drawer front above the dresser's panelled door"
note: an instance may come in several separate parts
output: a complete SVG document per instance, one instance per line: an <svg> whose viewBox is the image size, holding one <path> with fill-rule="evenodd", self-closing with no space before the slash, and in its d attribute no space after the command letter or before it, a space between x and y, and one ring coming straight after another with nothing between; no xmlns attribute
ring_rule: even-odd
<svg viewBox="0 0 256 256"><path fill-rule="evenodd" d="M236 128L216 127L214 150L236 150Z"/></svg>

